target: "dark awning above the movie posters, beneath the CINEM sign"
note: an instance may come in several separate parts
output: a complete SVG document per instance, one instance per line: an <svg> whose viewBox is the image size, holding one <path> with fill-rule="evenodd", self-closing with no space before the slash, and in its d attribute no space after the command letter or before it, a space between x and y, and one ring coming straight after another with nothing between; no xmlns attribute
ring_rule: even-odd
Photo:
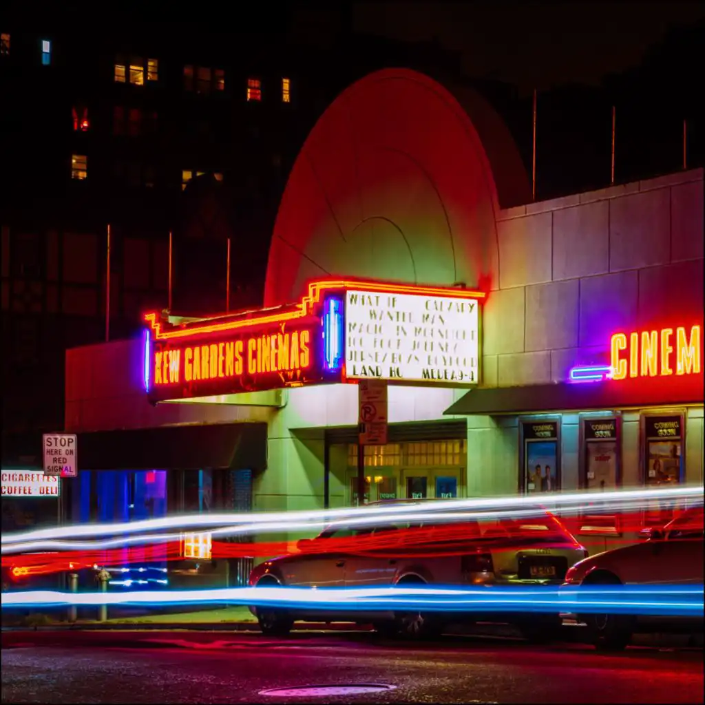
<svg viewBox="0 0 705 705"><path fill-rule="evenodd" d="M526 387L473 389L448 407L454 414L525 414L602 409L639 409L649 406L680 406L703 403L702 374L682 377L569 384L537 384Z"/></svg>

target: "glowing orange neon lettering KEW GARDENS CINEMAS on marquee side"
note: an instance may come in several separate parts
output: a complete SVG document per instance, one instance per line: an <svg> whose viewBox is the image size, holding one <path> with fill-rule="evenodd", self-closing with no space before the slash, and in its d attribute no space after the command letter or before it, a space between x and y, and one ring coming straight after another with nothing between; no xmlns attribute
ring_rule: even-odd
<svg viewBox="0 0 705 705"><path fill-rule="evenodd" d="M303 329L155 350L154 384L306 370L311 366L310 345L311 333Z"/></svg>

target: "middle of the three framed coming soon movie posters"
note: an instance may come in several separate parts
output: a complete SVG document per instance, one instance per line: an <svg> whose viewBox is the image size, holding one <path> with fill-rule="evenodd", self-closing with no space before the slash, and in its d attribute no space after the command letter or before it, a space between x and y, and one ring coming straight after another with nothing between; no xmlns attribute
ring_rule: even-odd
<svg viewBox="0 0 705 705"><path fill-rule="evenodd" d="M580 421L580 486L590 492L612 491L622 484L621 418L594 417ZM620 533L618 514L587 505L580 517L581 534L614 536Z"/></svg>

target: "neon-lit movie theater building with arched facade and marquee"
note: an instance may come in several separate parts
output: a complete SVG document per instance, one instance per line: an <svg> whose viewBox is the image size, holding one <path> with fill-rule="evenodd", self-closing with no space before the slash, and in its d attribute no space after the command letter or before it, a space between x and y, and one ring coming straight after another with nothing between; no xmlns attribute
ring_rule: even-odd
<svg viewBox="0 0 705 705"><path fill-rule="evenodd" d="M349 87L290 173L264 309L68 352L73 520L354 504L370 380L369 501L702 482L702 170L530 193L476 94Z"/></svg>

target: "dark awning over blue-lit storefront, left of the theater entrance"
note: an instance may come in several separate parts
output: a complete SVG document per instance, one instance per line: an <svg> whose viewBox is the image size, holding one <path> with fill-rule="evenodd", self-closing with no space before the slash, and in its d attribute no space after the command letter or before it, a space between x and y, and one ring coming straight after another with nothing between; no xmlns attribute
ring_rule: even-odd
<svg viewBox="0 0 705 705"><path fill-rule="evenodd" d="M207 424L78 434L80 470L266 467L266 424Z"/></svg>

